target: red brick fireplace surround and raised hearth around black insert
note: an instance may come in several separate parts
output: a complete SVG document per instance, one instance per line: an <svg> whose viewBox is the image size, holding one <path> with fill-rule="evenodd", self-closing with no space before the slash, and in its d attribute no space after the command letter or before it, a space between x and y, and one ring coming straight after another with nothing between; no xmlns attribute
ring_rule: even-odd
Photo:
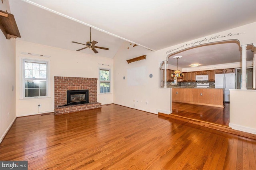
<svg viewBox="0 0 256 170"><path fill-rule="evenodd" d="M67 104L67 91L88 90L89 103L78 105ZM89 109L101 108L101 103L97 102L97 78L85 77L54 77L54 113L61 115L74 113Z"/></svg>

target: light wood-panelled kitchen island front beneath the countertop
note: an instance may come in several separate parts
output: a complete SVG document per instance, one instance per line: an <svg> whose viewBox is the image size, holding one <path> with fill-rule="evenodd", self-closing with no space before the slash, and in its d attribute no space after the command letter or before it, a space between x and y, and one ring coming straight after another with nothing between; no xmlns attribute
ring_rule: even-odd
<svg viewBox="0 0 256 170"><path fill-rule="evenodd" d="M172 88L172 101L224 108L223 89Z"/></svg>

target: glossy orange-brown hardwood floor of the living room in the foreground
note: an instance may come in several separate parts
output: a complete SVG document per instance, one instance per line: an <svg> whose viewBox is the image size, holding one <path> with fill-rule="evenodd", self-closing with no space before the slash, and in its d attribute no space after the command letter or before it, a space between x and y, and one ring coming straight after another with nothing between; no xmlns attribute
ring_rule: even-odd
<svg viewBox="0 0 256 170"><path fill-rule="evenodd" d="M29 170L256 169L256 140L122 107L18 117L0 160Z"/></svg>

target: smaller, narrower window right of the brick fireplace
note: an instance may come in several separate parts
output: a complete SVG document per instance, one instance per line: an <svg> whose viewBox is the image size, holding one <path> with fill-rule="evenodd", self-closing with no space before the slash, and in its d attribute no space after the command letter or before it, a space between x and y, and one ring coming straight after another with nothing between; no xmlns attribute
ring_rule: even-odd
<svg viewBox="0 0 256 170"><path fill-rule="evenodd" d="M110 93L110 69L100 69L100 93Z"/></svg>

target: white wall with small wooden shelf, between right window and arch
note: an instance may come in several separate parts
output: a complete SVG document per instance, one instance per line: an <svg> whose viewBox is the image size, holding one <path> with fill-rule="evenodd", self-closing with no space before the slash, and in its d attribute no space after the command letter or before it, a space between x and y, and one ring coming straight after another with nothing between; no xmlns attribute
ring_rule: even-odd
<svg viewBox="0 0 256 170"><path fill-rule="evenodd" d="M146 55L146 59L126 62L141 55ZM150 113L158 114L160 110L169 114L170 89L158 87L159 64L157 52L124 42L114 57L114 103Z"/></svg>

